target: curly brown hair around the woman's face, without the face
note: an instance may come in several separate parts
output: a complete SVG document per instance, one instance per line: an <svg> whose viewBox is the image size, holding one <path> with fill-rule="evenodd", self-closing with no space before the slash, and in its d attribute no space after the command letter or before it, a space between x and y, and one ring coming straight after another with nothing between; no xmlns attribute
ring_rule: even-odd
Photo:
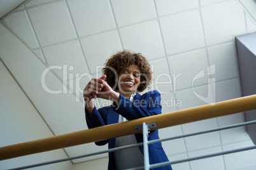
<svg viewBox="0 0 256 170"><path fill-rule="evenodd" d="M102 69L103 74L106 75L105 81L113 88L114 91L118 91L118 86L116 84L116 76L118 76L124 67L129 67L129 65L137 65L139 71L141 72L141 82L137 91L142 92L146 88L149 88L152 82L152 71L150 69L150 64L141 53L132 53L131 51L119 51L115 55L112 55L107 62L105 67ZM117 72L117 74L115 74Z"/></svg>

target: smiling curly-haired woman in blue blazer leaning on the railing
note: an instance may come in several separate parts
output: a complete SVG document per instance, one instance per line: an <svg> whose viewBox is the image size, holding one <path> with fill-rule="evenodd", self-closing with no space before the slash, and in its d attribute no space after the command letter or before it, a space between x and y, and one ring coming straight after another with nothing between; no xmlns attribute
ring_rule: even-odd
<svg viewBox="0 0 256 170"><path fill-rule="evenodd" d="M106 62L103 74L99 79L92 79L83 91L89 128L161 114L162 106L158 91L139 95L139 92L149 88L152 82L150 65L140 53L118 52ZM104 98L113 101L113 104L97 109L92 98ZM159 139L158 130L151 131L148 140L156 139ZM141 142L143 142L143 135L140 133L97 141L96 145L108 143L108 148L114 148ZM148 145L148 150L150 164L169 161L161 143ZM143 166L143 146L110 152L109 159L108 169ZM171 169L171 166L157 169Z"/></svg>

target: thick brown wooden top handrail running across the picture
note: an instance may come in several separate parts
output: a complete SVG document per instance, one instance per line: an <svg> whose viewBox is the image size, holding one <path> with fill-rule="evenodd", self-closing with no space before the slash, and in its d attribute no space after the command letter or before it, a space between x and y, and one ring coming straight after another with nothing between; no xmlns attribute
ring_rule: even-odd
<svg viewBox="0 0 256 170"><path fill-rule="evenodd" d="M256 95L220 101L211 105L187 108L166 114L153 115L132 121L120 122L98 128L77 131L75 133L60 134L49 138L43 138L41 140L28 141L1 147L0 160L46 152L59 148L72 147L94 141L117 138L119 136L129 134L141 133L141 131L136 131L134 127L141 126L143 122L146 124L155 122L157 127L150 129L154 130L254 109L256 109Z"/></svg>

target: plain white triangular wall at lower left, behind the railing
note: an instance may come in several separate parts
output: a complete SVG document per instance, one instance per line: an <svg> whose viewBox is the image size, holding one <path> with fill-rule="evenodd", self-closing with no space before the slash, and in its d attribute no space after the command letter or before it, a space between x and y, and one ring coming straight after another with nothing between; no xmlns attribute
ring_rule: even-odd
<svg viewBox="0 0 256 170"><path fill-rule="evenodd" d="M3 39L1 39L3 41ZM10 48L15 48L10 47ZM53 136L24 91L0 61L0 147ZM67 157L64 150L33 154L0 161L0 169L46 162ZM71 169L70 161L34 169Z"/></svg>

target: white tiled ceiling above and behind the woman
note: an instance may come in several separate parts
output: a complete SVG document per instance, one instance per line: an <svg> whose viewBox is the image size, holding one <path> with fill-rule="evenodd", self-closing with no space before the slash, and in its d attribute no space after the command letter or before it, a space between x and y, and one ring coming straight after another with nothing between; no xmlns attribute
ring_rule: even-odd
<svg viewBox="0 0 256 170"><path fill-rule="evenodd" d="M7 0L3 2L6 6L3 9L11 6L11 10L22 1L18 4L5 4L11 2ZM169 102L163 105L163 113L207 104L197 98L194 91L202 96L210 91L211 101L238 98L241 93L234 37L256 31L254 2L32 0L2 21L23 42L18 46L25 45L31 53L1 59L53 134L87 128L80 89L90 76L101 75L100 67L106 58L122 49L141 52L152 64L155 81L167 82L158 84L158 87L155 83L152 86L162 91L163 101ZM5 14L6 11L1 16ZM215 78L216 83L210 82L208 86L209 77L204 77L195 81L192 89L194 76L201 70L206 72L206 68L213 64L216 74L210 78ZM43 71L54 65L62 69L49 72L47 86L55 90L68 86L72 93L50 95L42 88L40 78ZM63 74L64 65L67 65L66 75ZM76 74L83 73L90 76L76 77ZM31 86L30 82L34 85ZM161 137L242 121L242 115L210 119L169 128L171 131L162 130ZM221 145L239 142L239 138L234 139L227 134L229 132L207 134L206 138L186 138L163 145L167 148L167 155L172 157L216 146L222 149ZM195 146L194 143L204 145ZM102 149L94 144L65 148L69 156ZM89 159L73 162L84 160Z"/></svg>

